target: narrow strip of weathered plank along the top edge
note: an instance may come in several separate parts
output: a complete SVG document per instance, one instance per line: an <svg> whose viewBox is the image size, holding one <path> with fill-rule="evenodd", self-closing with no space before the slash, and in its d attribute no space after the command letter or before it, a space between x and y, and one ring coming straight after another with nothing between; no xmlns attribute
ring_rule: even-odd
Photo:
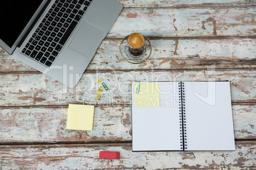
<svg viewBox="0 0 256 170"><path fill-rule="evenodd" d="M188 6L252 6L255 5L255 1L241 1L241 0L182 0L182 1L161 1L161 0L118 0L119 3L124 4L125 8L131 7L188 7Z"/></svg>

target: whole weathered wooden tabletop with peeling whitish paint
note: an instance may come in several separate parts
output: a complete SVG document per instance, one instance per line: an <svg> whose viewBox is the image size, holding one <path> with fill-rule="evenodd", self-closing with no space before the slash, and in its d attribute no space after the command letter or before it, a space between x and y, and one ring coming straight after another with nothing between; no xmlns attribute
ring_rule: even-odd
<svg viewBox="0 0 256 170"><path fill-rule="evenodd" d="M0 169L256 168L255 1L119 1L125 8L76 88L0 49ZM118 52L131 32L152 41L145 63ZM99 77L110 92L96 103L90 80ZM132 152L131 82L192 80L231 82L236 151ZM93 131L66 130L69 103L96 106ZM120 160L99 159L105 150Z"/></svg>

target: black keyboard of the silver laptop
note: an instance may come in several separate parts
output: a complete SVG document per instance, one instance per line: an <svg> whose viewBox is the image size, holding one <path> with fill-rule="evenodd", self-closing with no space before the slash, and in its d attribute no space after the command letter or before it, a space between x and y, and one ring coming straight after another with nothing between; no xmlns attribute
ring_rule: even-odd
<svg viewBox="0 0 256 170"><path fill-rule="evenodd" d="M50 67L91 2L56 0L22 53Z"/></svg>

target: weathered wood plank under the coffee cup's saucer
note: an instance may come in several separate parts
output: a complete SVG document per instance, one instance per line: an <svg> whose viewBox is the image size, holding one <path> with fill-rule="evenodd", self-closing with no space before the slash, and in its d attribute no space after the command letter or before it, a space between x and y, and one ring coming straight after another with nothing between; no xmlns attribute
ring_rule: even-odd
<svg viewBox="0 0 256 170"><path fill-rule="evenodd" d="M150 59L127 63L119 53L120 40L104 40L87 70L256 68L256 39L153 39ZM35 71L0 50L1 72Z"/></svg>

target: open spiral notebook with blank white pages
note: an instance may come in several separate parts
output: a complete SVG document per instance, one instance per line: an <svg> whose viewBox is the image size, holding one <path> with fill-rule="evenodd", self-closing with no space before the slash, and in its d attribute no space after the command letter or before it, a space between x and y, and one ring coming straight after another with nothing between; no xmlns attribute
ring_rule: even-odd
<svg viewBox="0 0 256 170"><path fill-rule="evenodd" d="M225 82L132 82L132 151L235 150Z"/></svg>

